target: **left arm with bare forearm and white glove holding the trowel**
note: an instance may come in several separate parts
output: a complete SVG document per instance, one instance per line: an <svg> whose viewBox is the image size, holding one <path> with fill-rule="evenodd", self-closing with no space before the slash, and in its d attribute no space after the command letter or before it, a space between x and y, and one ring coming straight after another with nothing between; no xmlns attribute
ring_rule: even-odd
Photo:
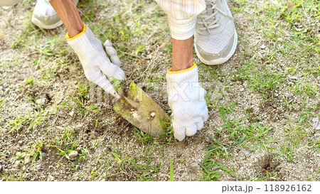
<svg viewBox="0 0 320 194"><path fill-rule="evenodd" d="M68 44L77 53L85 77L91 82L102 87L105 92L119 98L116 90L112 87L108 77L113 77L117 80L124 80L124 71L119 68L120 60L117 56L117 50L112 47L110 41L105 42L105 50L102 43L92 33L89 27L82 23L78 9L73 0L50 0L53 9L60 16L63 24L68 30L66 35ZM111 61L107 58L110 55Z"/></svg>

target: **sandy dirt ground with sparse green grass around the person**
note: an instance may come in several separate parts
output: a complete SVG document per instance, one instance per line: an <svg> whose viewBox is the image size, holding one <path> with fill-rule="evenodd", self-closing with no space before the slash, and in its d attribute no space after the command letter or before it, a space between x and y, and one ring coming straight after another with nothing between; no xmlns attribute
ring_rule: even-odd
<svg viewBox="0 0 320 194"><path fill-rule="evenodd" d="M65 27L31 23L34 1L0 7L0 180L319 180L320 22L308 9L316 2L299 2L228 2L238 48L223 65L194 58L210 113L182 142L171 129L144 134L108 99L92 99L100 90L86 80ZM146 85L170 114L151 85L164 88L171 64L159 6L93 0L78 8L101 41L117 46L124 85ZM304 17L289 23L282 15L290 9Z"/></svg>

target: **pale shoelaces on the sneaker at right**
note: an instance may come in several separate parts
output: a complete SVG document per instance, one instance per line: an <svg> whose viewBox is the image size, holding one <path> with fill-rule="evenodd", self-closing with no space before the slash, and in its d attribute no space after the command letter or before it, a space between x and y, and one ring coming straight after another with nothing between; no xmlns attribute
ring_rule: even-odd
<svg viewBox="0 0 320 194"><path fill-rule="evenodd" d="M225 14L224 11L222 11L220 8L218 8L216 1L217 0L206 1L206 6L207 6L206 10L204 10L198 16L199 18L201 18L201 21L198 21L198 24L202 24L203 26L205 26L203 28L200 28L201 31L208 30L208 32L210 33L210 29L218 28L221 25L220 23L218 23L220 18L215 17L218 14L218 12L227 16L227 14ZM208 16L208 11L209 11L208 9L212 9L213 14L210 14Z"/></svg>

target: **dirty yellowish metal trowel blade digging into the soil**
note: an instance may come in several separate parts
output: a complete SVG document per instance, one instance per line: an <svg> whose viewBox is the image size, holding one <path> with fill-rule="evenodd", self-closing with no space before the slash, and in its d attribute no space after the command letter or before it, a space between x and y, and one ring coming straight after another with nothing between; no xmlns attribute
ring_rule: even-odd
<svg viewBox="0 0 320 194"><path fill-rule="evenodd" d="M159 104L156 104L134 82L130 82L127 91L124 91L119 85L116 90L121 98L113 106L115 112L146 133L151 135L161 134L161 131L163 131L162 121L169 122L170 119Z"/></svg>

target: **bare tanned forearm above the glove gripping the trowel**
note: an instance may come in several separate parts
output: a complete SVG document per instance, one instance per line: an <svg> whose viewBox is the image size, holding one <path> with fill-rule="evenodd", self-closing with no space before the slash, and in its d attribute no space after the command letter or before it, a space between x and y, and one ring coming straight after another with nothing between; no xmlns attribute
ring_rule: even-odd
<svg viewBox="0 0 320 194"><path fill-rule="evenodd" d="M78 9L73 0L50 0L51 6L60 16L65 28L68 30L70 38L76 36L83 30L83 23L81 21Z"/></svg>

